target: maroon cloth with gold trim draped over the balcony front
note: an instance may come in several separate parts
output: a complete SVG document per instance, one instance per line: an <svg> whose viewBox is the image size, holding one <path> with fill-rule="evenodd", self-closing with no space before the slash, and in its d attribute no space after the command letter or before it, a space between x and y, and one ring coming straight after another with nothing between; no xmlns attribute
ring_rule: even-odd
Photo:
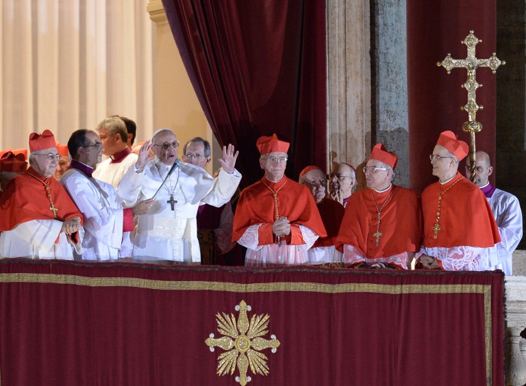
<svg viewBox="0 0 526 386"><path fill-rule="evenodd" d="M238 335L268 315L260 338L279 341L247 331L268 367L249 385L504 383L501 272L3 259L0 310L2 385L238 385L218 360L247 338L205 342L228 336L223 313Z"/></svg>

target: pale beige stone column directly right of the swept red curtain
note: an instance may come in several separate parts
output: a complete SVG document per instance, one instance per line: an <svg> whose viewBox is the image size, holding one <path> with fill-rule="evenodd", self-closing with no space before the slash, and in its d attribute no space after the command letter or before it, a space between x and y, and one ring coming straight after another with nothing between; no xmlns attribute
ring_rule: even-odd
<svg viewBox="0 0 526 386"><path fill-rule="evenodd" d="M327 164L371 151L369 2L327 0Z"/></svg>

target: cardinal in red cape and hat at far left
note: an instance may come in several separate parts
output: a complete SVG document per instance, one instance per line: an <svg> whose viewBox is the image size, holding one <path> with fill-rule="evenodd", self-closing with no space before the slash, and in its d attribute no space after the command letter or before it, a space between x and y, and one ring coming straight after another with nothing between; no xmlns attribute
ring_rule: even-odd
<svg viewBox="0 0 526 386"><path fill-rule="evenodd" d="M53 133L29 135L29 168L0 196L0 257L73 260L82 253L82 214L53 174L58 165Z"/></svg>

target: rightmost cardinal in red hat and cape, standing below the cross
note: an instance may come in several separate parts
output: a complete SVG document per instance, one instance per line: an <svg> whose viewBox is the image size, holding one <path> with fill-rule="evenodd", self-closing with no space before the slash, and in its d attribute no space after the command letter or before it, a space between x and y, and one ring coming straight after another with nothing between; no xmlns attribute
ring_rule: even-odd
<svg viewBox="0 0 526 386"><path fill-rule="evenodd" d="M416 268L481 271L489 267L481 252L501 241L486 196L458 172L468 144L442 131L429 155L433 175L422 193L424 238Z"/></svg>

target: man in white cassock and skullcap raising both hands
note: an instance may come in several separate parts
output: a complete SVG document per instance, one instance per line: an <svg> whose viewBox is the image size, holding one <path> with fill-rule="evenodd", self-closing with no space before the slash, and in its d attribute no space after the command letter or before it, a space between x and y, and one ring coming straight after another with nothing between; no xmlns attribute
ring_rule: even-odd
<svg viewBox="0 0 526 386"><path fill-rule="evenodd" d="M153 198L157 192L149 211L138 216L132 253L138 261L199 263L199 205L224 205L241 181L234 168L238 151L234 154L231 144L223 146L223 158L219 159L222 169L216 179L199 166L181 163L177 159L178 147L173 131L157 131L151 143L147 141L140 148L137 163L118 185L118 195L125 206ZM153 155L149 155L150 150ZM173 172L168 176L172 166Z"/></svg>

